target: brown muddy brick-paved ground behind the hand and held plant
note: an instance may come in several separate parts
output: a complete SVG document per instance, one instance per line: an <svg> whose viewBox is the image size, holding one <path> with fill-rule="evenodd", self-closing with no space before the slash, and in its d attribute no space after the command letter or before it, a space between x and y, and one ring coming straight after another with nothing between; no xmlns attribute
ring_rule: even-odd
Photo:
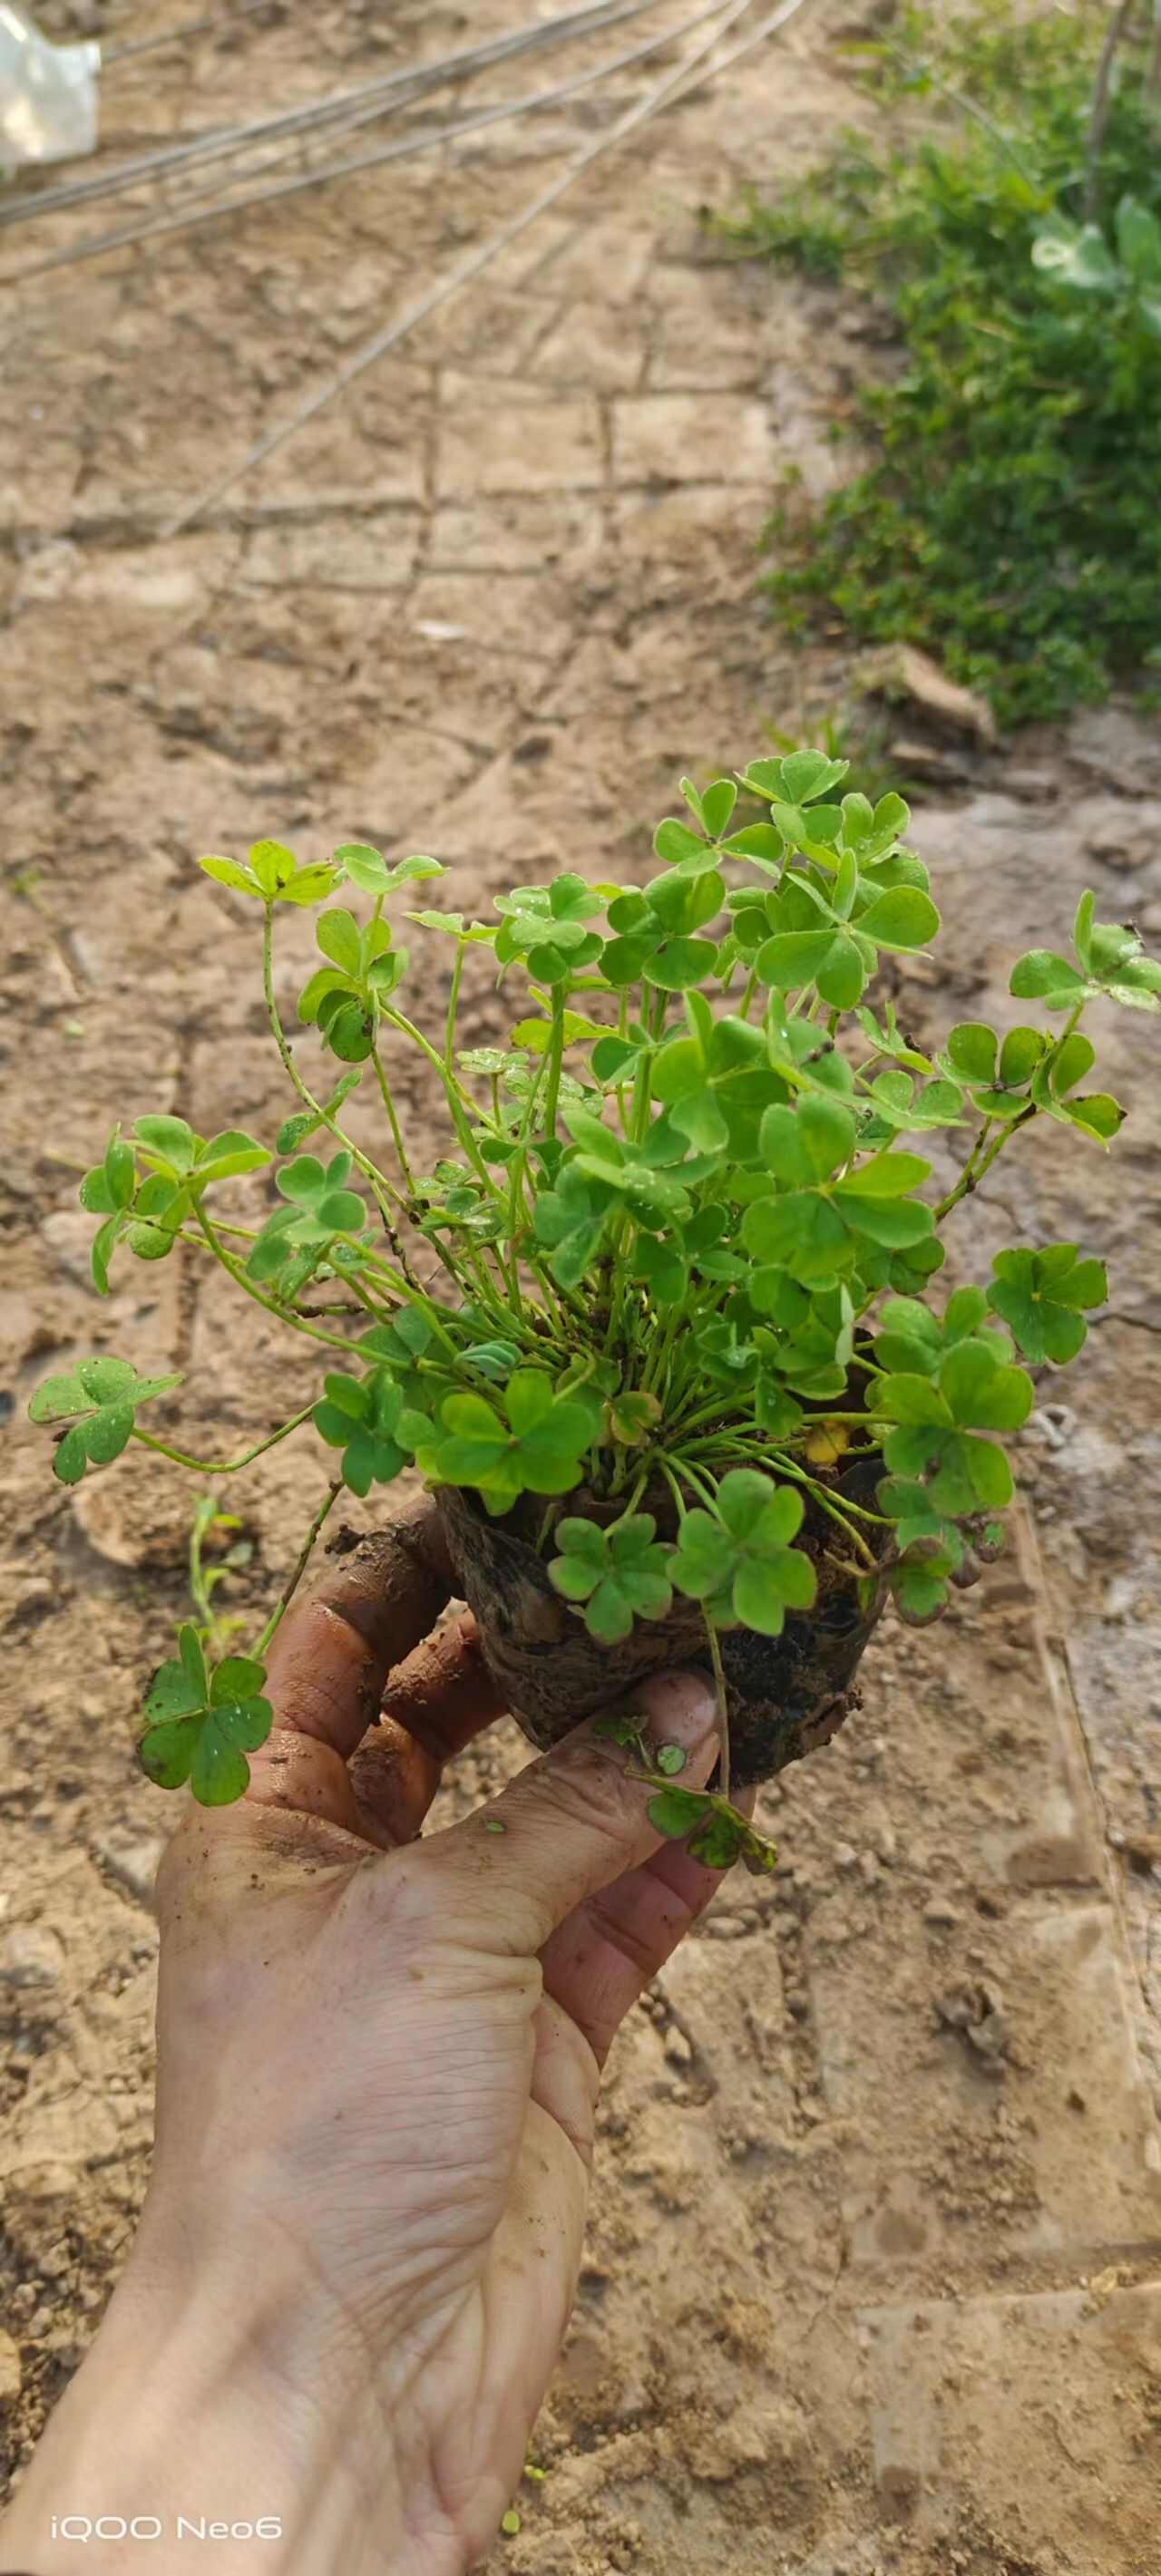
<svg viewBox="0 0 1161 2576"><path fill-rule="evenodd" d="M152 0L44 15L116 39ZM476 41L471 8L270 5L229 41L111 64L106 160ZM541 13L546 15L546 13ZM677 26L659 8L649 26ZM170 21L172 23L172 21ZM535 224L180 538L165 523L391 309L525 204L608 108L5 289L0 386L3 1417L0 2445L21 2460L121 2264L149 2154L165 1803L134 1705L183 1607L190 1494L160 1461L51 1484L26 1399L131 1350L188 1370L209 1455L311 1363L193 1270L88 1283L80 1170L116 1115L283 1115L252 925L198 850L275 832L430 848L466 912L559 863L631 878L682 768L850 696L842 639L754 605L775 471L829 428L873 317L705 255L695 209L860 113L808 10ZM605 39L620 49L638 31ZM587 49L587 59L592 49ZM569 54L569 67L579 57ZM559 77L512 67L471 103ZM659 64L615 82L628 103ZM147 211L157 198L136 198ZM124 209L113 209L124 214ZM0 234L10 278L108 209ZM1091 884L1161 930L1161 742L1128 708L986 752L906 714L916 848L947 914L901 979L937 1033L1014 1015L1007 971ZM311 948L293 920L291 997ZM440 961L417 966L435 1018ZM474 994L487 1038L494 1005ZM1158 2576L1161 2571L1161 1087L1099 1028L1112 1157L1032 1133L960 1260L1017 1236L1110 1257L1112 1303L1019 1450L1017 1543L934 1631L886 1628L865 1705L762 1801L783 1862L731 1880L623 2038L577 2316L520 2494L515 2576ZM412 1126L432 1136L422 1079ZM1153 1193L1151 1193L1153 1180ZM309 1443L232 1489L270 1600ZM466 1757L448 1806L520 1759Z"/></svg>

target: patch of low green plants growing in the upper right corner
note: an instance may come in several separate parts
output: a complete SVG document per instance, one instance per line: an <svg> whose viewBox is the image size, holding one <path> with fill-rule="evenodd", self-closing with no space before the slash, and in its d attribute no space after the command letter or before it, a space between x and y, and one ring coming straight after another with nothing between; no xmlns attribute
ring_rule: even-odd
<svg viewBox="0 0 1161 2576"><path fill-rule="evenodd" d="M783 495L765 587L790 626L927 647L1001 724L1061 716L1156 670L1153 10L976 5L942 31L904 10L857 52L883 124L911 93L927 131L844 137L718 219L875 299L893 343L847 422L870 461L821 507Z"/></svg>

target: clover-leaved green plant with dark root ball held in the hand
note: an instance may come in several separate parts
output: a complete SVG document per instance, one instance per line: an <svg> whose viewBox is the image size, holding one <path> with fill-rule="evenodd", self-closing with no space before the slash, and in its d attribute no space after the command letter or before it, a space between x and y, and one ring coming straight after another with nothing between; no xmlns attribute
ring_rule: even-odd
<svg viewBox="0 0 1161 2576"><path fill-rule="evenodd" d="M206 1806L245 1790L270 1728L265 1651L327 1512L342 1486L366 1497L417 1468L530 1734L700 1656L723 1723L711 1790L680 1785L685 1757L649 1749L638 1716L605 1728L662 1834L770 1868L731 1783L829 1731L886 1595L932 1620L999 1551L1030 1368L1076 1358L1107 1280L1079 1244L1012 1247L986 1283L942 1296L942 1226L1035 1118L1112 1144L1122 1110L1089 1087L1081 1020L1097 994L1161 1007L1161 966L1086 894L1071 956L1035 948L1012 974L1035 1020L1004 1038L963 1020L927 1054L868 999L883 958L940 930L927 868L906 804L842 793L844 773L806 750L685 778L687 817L656 827L644 886L561 873L499 896L494 925L407 912L445 943L443 1036L402 1007L389 917L448 873L438 860L391 866L353 842L301 866L273 840L245 863L201 860L260 917L296 1105L273 1144L170 1115L113 1128L80 1190L93 1278L108 1291L124 1255L180 1247L306 1334L314 1401L232 1471L309 1430L332 1479L245 1654L219 1654L201 1587L203 1618L144 1703L154 1783L188 1780ZM322 907L299 997L311 1061L322 1046L332 1066L314 1082L275 1002L288 904ZM517 1005L507 1043L463 1048L461 992L481 966ZM448 1115L432 1170L396 1108L407 1051ZM381 1159L345 1128L358 1084L381 1103ZM945 1190L934 1136L958 1139ZM273 1188L250 1226L229 1211L257 1170ZM59 1425L54 1473L77 1484L131 1445L224 1473L149 1427L178 1386L129 1358L46 1378L31 1414Z"/></svg>

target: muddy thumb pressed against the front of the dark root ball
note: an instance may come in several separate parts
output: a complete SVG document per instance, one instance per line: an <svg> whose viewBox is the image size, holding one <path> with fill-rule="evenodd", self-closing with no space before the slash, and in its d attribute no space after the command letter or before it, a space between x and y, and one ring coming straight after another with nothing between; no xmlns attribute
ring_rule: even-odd
<svg viewBox="0 0 1161 2576"><path fill-rule="evenodd" d="M633 1695L636 1713L649 1744L682 1747L682 1788L705 1788L718 1757L711 1682L700 1672L654 1674ZM492 1927L499 1947L525 1955L541 1950L584 1896L659 1850L664 1837L646 1814L651 1795L633 1757L597 1736L590 1721L530 1762L499 1798L420 1850L445 1880L458 1880L453 1919L471 1919L474 1937Z"/></svg>

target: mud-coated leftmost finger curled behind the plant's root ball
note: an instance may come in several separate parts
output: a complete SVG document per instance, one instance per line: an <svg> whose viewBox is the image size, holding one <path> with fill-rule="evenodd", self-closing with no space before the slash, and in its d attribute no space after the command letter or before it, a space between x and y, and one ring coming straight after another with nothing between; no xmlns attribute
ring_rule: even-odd
<svg viewBox="0 0 1161 2576"><path fill-rule="evenodd" d="M286 1613L265 1664L275 1726L348 1762L378 1723L389 1672L435 1628L450 1589L440 1515L425 1494Z"/></svg>

